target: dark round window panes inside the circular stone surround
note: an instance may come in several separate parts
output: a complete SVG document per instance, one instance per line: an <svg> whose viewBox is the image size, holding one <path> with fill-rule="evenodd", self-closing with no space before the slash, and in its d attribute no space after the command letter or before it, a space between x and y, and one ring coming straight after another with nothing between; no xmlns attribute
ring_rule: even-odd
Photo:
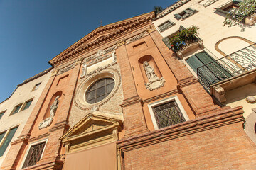
<svg viewBox="0 0 256 170"><path fill-rule="evenodd" d="M96 81L85 93L87 103L97 103L110 94L114 88L114 79L104 78Z"/></svg>

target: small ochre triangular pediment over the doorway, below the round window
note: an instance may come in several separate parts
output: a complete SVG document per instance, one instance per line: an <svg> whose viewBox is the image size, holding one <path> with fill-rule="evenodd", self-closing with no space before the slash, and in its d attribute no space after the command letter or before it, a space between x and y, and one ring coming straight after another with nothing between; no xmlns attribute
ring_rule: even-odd
<svg viewBox="0 0 256 170"><path fill-rule="evenodd" d="M111 130L115 127L121 128L122 120L107 118L101 115L93 115L89 113L85 118L80 120L68 132L60 137L60 140L71 141L81 137L92 136L102 132Z"/></svg>

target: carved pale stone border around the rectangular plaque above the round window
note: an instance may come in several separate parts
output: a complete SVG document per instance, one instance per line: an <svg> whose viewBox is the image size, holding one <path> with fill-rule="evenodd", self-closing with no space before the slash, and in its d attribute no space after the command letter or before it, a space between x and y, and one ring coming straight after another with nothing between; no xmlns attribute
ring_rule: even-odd
<svg viewBox="0 0 256 170"><path fill-rule="evenodd" d="M105 56L102 56L100 54L102 54L102 52L97 53L97 57L95 58L95 60L90 61L88 64L82 65L82 74L80 75L80 78L83 78L85 76L90 76L92 74L100 72L103 69L107 69L107 67L117 64L117 55L116 55L115 51L113 51L109 55L105 55ZM87 67L90 67L92 64L96 64L97 62L101 62L102 60L106 60L107 58L110 58L110 57L112 57L112 59L113 59L111 64L107 64L102 67L97 67L97 69L93 70L92 72L87 73Z"/></svg>

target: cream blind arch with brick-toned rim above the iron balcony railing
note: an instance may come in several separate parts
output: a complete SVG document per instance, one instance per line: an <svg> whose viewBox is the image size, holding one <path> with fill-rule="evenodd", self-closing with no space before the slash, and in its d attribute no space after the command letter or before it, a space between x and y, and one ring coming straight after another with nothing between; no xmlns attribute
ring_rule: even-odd
<svg viewBox="0 0 256 170"><path fill-rule="evenodd" d="M252 44L254 44L254 42L246 38L230 36L219 40L215 44L215 50L220 52L221 55L226 56Z"/></svg>

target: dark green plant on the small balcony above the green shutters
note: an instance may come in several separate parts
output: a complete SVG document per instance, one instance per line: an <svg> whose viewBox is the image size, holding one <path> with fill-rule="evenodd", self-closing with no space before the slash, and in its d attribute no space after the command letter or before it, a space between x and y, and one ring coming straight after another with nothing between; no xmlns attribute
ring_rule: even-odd
<svg viewBox="0 0 256 170"><path fill-rule="evenodd" d="M182 47L194 42L197 40L196 35L198 35L198 29L197 26L191 26L186 30L181 30L170 39L171 47L174 50L181 50Z"/></svg>

